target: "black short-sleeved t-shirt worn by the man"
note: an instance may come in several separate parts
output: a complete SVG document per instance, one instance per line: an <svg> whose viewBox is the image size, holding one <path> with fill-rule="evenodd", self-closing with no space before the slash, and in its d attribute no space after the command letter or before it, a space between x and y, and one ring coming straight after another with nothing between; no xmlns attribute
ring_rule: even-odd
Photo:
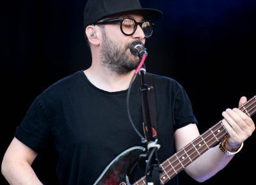
<svg viewBox="0 0 256 185"><path fill-rule="evenodd" d="M189 98L178 82L159 75L152 78L157 144L161 145L157 157L161 163L175 153L175 130L196 123L196 119ZM140 97L140 82L136 77L129 105L132 121L143 135ZM58 154L59 182L70 185L93 184L118 154L141 146L141 138L127 114L127 90L103 91L91 84L82 70L52 84L37 96L17 127L15 137L39 154L53 144ZM177 176L168 184L177 184Z"/></svg>

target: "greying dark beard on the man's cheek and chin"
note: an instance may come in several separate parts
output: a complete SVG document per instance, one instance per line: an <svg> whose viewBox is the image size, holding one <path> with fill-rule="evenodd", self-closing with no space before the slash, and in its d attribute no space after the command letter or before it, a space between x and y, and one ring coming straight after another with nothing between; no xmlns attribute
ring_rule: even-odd
<svg viewBox="0 0 256 185"><path fill-rule="evenodd" d="M132 59L127 54L127 49L129 49L130 45L131 43L128 43L123 49L120 48L118 43L110 40L104 29L102 29L102 49L100 54L102 66L118 75L125 75L135 70L140 59Z"/></svg>

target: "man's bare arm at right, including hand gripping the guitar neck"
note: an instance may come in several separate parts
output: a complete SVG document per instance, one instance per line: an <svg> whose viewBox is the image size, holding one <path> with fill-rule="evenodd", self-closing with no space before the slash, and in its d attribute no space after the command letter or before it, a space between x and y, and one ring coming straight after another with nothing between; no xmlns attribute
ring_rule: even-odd
<svg viewBox="0 0 256 185"><path fill-rule="evenodd" d="M239 101L239 106L246 101L246 98L242 97ZM233 110L227 109L222 115L224 117L222 120L223 126L228 132L225 148L230 152L235 152L252 135L255 125L248 115L237 108ZM177 150L198 136L199 132L196 124L189 124L188 126L177 129L175 131L175 145ZM219 145L216 145L188 165L185 171L196 181L203 182L223 169L233 157L224 154L220 150Z"/></svg>

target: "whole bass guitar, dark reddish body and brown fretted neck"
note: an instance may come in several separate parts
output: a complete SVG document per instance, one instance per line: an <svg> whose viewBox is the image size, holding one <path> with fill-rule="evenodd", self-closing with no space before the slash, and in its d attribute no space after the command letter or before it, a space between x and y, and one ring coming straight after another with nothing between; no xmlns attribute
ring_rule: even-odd
<svg viewBox="0 0 256 185"><path fill-rule="evenodd" d="M244 103L239 109L250 117L255 114L256 96L253 96L253 98ZM170 158L163 161L160 165L163 170L160 174L161 184L166 184L166 182L170 181L175 175L184 170L186 166L195 161L196 158L223 140L227 134L222 121L219 121L202 133L202 135L170 156ZM128 174L131 166L138 161L140 154L143 152L145 152L145 148L140 146L125 150L106 166L93 185L131 185ZM133 183L133 185L144 184L146 184L145 176Z"/></svg>

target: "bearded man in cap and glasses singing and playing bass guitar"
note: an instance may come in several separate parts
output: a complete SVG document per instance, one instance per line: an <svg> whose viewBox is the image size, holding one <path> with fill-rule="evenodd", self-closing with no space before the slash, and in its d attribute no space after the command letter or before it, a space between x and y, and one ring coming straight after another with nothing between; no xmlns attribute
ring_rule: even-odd
<svg viewBox="0 0 256 185"><path fill-rule="evenodd" d="M133 41L144 44L152 34L152 22L161 15L159 10L141 8L137 0L87 2L84 29L92 65L52 84L35 98L3 158L2 174L10 184L42 184L31 164L51 144L58 154L60 184L100 184L101 174L116 156L142 145L126 107L131 90L132 121L143 135L140 80L132 78L141 59L131 53L130 46ZM172 78L150 76L156 96L157 144L161 145L157 157L162 163L200 133L184 88ZM241 97L239 107L246 101ZM255 130L252 119L238 108L225 110L223 117L223 131L228 136L220 141L221 147L209 147L184 169L198 182L225 167ZM116 184L111 179L115 175L106 180L111 181L108 184ZM136 181L135 176L131 178ZM166 184L178 184L177 176Z"/></svg>

